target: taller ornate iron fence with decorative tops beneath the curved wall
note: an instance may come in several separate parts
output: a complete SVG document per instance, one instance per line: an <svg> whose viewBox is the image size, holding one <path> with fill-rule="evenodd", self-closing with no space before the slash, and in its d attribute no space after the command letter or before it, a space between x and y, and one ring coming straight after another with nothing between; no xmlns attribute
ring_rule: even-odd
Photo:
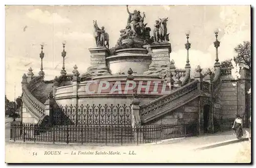
<svg viewBox="0 0 256 168"><path fill-rule="evenodd" d="M53 111L55 125L130 125L131 106L66 105Z"/></svg>

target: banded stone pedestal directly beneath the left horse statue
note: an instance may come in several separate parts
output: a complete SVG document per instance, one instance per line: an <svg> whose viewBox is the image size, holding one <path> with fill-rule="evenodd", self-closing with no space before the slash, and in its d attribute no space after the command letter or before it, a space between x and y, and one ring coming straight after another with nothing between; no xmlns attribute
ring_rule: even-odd
<svg viewBox="0 0 256 168"><path fill-rule="evenodd" d="M91 52L91 66L92 67L106 67L106 56L109 51L106 47L89 48Z"/></svg>

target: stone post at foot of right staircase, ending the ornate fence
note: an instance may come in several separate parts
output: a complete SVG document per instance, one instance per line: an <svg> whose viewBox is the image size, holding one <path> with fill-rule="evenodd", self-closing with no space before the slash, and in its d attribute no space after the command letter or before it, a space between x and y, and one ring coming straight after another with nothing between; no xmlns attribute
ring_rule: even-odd
<svg viewBox="0 0 256 168"><path fill-rule="evenodd" d="M141 120L140 120L140 100L134 98L131 104L131 115L132 115L132 127L135 130L135 141L143 141L143 132L141 129Z"/></svg>

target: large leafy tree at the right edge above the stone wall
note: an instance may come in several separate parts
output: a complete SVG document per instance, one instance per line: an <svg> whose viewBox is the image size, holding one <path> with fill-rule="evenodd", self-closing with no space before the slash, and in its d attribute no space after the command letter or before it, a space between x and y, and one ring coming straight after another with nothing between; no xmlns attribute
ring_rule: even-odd
<svg viewBox="0 0 256 168"><path fill-rule="evenodd" d="M236 52L234 62L239 65L247 65L249 70L251 70L251 42L244 41L244 44L239 44L234 48L234 52Z"/></svg>

